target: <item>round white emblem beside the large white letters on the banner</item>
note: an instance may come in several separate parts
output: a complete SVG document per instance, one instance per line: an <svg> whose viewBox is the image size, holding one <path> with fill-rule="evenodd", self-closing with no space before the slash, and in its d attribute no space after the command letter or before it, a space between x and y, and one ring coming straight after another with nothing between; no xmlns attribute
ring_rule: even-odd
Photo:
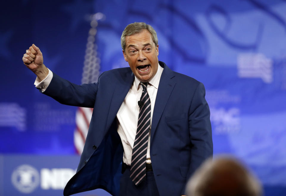
<svg viewBox="0 0 286 196"><path fill-rule="evenodd" d="M21 165L12 173L13 185L22 193L33 192L40 183L39 172L29 165Z"/></svg>

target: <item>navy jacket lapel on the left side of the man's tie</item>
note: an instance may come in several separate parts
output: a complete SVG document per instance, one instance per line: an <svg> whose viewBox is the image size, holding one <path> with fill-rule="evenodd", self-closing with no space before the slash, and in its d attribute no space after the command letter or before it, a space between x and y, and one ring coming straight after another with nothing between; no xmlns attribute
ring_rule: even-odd
<svg viewBox="0 0 286 196"><path fill-rule="evenodd" d="M108 113L107 127L109 127L111 123L114 121L114 118L122 102L124 101L133 81L134 81L134 74L130 69L130 71L128 71L126 74L123 75L122 80L116 83Z"/></svg>

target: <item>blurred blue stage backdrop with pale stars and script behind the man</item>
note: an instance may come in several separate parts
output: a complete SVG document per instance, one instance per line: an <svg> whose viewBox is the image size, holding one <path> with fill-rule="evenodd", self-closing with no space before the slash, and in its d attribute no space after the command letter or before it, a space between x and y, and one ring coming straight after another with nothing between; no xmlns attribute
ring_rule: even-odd
<svg viewBox="0 0 286 196"><path fill-rule="evenodd" d="M1 2L0 9L4 157L76 153L76 108L39 93L22 56L35 43L49 69L80 84L90 15L100 12L95 35L100 73L128 66L120 45L127 24L151 24L159 60L206 87L214 153L241 158L262 181L265 195L286 195L285 0L22 0ZM15 159L8 156L4 163L9 160ZM10 180L0 183L13 187Z"/></svg>

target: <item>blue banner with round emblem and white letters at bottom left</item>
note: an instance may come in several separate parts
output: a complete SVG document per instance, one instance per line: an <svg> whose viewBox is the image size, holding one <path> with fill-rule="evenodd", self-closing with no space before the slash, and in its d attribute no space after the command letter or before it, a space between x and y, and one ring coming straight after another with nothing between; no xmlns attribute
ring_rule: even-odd
<svg viewBox="0 0 286 196"><path fill-rule="evenodd" d="M63 195L75 174L80 157L4 155L0 156L0 196ZM102 189L75 195L110 196Z"/></svg>

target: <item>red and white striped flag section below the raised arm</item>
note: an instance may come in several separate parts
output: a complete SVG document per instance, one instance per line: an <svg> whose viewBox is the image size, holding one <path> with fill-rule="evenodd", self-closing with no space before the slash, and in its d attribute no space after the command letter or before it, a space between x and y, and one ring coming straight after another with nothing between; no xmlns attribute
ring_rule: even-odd
<svg viewBox="0 0 286 196"><path fill-rule="evenodd" d="M77 108L75 115L74 146L78 154L83 152L93 108Z"/></svg>

